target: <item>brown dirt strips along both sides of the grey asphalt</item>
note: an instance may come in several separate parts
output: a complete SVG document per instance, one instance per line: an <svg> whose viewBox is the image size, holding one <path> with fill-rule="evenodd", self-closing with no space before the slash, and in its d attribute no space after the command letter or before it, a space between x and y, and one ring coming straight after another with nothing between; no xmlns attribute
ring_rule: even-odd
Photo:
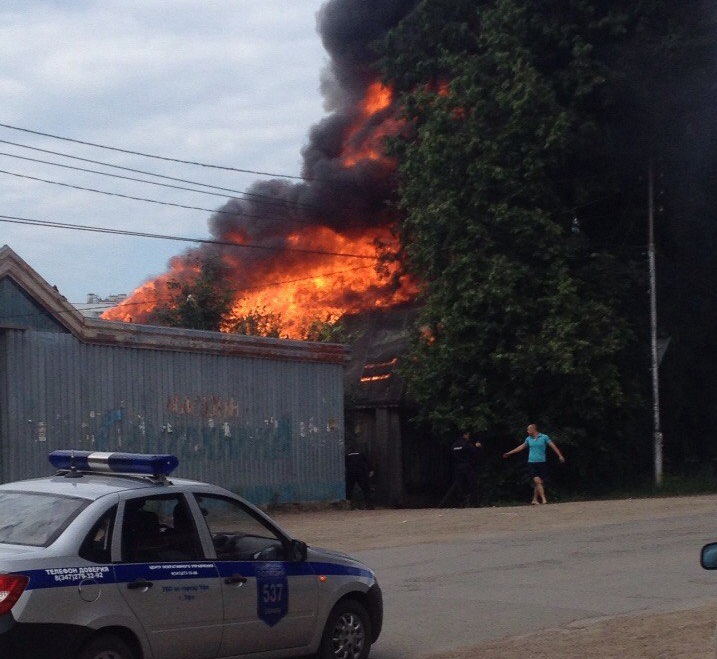
<svg viewBox="0 0 717 659"><path fill-rule="evenodd" d="M475 533L585 528L680 513L711 513L716 507L717 496L698 496L540 507L283 511L272 516L312 545L350 553ZM715 620L717 599L712 605L686 611L574 623L437 654L432 659L712 659Z"/></svg>

